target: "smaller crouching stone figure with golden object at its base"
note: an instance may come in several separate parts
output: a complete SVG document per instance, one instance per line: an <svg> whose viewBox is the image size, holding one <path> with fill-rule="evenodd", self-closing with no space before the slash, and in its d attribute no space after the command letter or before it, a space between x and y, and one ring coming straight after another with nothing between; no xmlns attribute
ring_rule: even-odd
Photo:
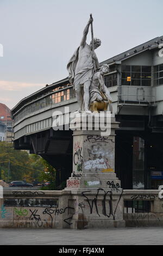
<svg viewBox="0 0 163 256"><path fill-rule="evenodd" d="M104 84L104 74L109 72L109 65L104 64L101 69L92 77L90 86L90 110L98 113L99 111L107 111L108 106L112 113L112 99L108 88Z"/></svg>

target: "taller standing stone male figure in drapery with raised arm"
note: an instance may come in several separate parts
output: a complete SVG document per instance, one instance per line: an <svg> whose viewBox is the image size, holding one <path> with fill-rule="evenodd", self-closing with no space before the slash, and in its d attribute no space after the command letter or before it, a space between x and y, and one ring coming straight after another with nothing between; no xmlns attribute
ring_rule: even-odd
<svg viewBox="0 0 163 256"><path fill-rule="evenodd" d="M89 27L92 22L93 19L90 18L84 29L80 46L73 54L67 65L69 81L73 83L74 89L76 91L77 101L79 104L78 112L82 112L82 110L84 110L87 113L90 113L89 88L92 81L92 76L96 69L99 69L99 62L96 54L95 52L92 52L92 41L90 42L90 45L86 44L86 36L89 32ZM93 43L94 48L96 49L101 45L101 40L94 38Z"/></svg>

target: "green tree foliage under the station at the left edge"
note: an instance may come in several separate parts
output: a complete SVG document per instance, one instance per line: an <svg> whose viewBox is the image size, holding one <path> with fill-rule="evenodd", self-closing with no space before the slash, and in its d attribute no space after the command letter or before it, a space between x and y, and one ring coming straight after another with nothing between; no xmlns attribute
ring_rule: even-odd
<svg viewBox="0 0 163 256"><path fill-rule="evenodd" d="M0 179L26 180L29 183L34 180L50 181L51 184L42 189L55 190L56 170L41 156L29 155L26 150L6 148L5 143L0 142Z"/></svg>

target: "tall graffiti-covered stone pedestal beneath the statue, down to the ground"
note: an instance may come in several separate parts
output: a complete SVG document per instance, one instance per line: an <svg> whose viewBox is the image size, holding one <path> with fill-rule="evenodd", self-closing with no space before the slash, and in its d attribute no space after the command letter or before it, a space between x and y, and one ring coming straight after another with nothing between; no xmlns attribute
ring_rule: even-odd
<svg viewBox="0 0 163 256"><path fill-rule="evenodd" d="M75 209L71 228L124 227L121 181L115 174L115 129L118 123L111 119L82 123L82 114L76 119L73 131L73 172L65 190L71 190L69 206ZM110 135L103 134L110 126ZM108 122L108 124L107 124ZM83 127L82 127L83 125ZM97 126L100 126L97 129ZM82 127L82 130L79 130Z"/></svg>

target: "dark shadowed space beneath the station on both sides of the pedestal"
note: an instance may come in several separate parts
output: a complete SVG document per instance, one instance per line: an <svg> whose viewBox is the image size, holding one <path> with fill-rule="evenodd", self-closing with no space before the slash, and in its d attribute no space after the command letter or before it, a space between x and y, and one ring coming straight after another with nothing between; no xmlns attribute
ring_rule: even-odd
<svg viewBox="0 0 163 256"><path fill-rule="evenodd" d="M149 117L140 115L116 116L120 129L116 131L115 171L123 189L157 189L163 185L163 118L159 118L149 122ZM15 140L14 148L30 150L52 164L57 169L57 187L71 176L71 130L32 133Z"/></svg>

